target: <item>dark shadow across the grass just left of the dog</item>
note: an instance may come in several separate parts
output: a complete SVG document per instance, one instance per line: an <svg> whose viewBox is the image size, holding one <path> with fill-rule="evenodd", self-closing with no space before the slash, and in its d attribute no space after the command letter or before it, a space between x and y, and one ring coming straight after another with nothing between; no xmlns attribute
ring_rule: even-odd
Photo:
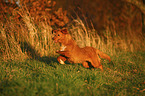
<svg viewBox="0 0 145 96"><path fill-rule="evenodd" d="M35 60L38 60L40 62L47 63L51 67L55 67L52 62L57 62L57 59L55 57L48 57L48 56L43 56L41 57L40 54L35 50L35 48L28 42L21 42L21 49L22 52L26 52L27 55Z"/></svg>

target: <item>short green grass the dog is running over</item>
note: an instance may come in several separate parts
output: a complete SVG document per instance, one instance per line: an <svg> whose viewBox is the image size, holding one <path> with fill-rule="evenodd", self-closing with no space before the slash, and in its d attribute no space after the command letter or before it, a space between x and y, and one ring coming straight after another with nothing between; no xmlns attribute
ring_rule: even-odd
<svg viewBox="0 0 145 96"><path fill-rule="evenodd" d="M145 52L120 53L100 69L60 65L56 57L1 62L0 96L143 96Z"/></svg>

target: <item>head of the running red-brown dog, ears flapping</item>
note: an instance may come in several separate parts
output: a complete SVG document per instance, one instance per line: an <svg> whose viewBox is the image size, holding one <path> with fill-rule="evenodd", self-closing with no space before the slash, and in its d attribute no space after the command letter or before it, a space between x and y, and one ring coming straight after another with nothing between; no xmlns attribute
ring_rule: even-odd
<svg viewBox="0 0 145 96"><path fill-rule="evenodd" d="M52 38L54 42L58 43L66 43L68 40L71 39L70 34L68 33L67 29L61 29L61 30L53 30L52 33L54 34L54 37Z"/></svg>

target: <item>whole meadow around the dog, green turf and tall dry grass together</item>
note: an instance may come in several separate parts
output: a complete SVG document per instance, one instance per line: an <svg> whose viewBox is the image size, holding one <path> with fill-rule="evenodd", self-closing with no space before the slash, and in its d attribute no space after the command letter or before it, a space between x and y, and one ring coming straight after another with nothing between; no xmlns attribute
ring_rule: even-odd
<svg viewBox="0 0 145 96"><path fill-rule="evenodd" d="M104 71L81 64L57 62L59 44L52 26L35 22L25 8L21 19L4 15L0 23L0 96L143 96L145 94L145 39L142 34L115 30L109 23L102 35L74 19L67 27L80 47L93 46L107 53ZM45 17L45 16L44 16Z"/></svg>

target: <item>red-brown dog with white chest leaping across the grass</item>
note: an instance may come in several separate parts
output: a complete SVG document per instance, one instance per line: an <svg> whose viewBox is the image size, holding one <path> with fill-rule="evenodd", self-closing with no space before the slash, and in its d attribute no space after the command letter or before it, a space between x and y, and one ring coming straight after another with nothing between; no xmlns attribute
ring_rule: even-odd
<svg viewBox="0 0 145 96"><path fill-rule="evenodd" d="M57 51L60 54L57 58L60 64L65 64L67 60L71 63L82 63L85 68L89 68L90 63L94 68L100 68L103 71L99 56L111 61L107 54L98 49L88 46L80 48L66 29L53 30L53 32L55 33L53 40L61 44L60 50Z"/></svg>

